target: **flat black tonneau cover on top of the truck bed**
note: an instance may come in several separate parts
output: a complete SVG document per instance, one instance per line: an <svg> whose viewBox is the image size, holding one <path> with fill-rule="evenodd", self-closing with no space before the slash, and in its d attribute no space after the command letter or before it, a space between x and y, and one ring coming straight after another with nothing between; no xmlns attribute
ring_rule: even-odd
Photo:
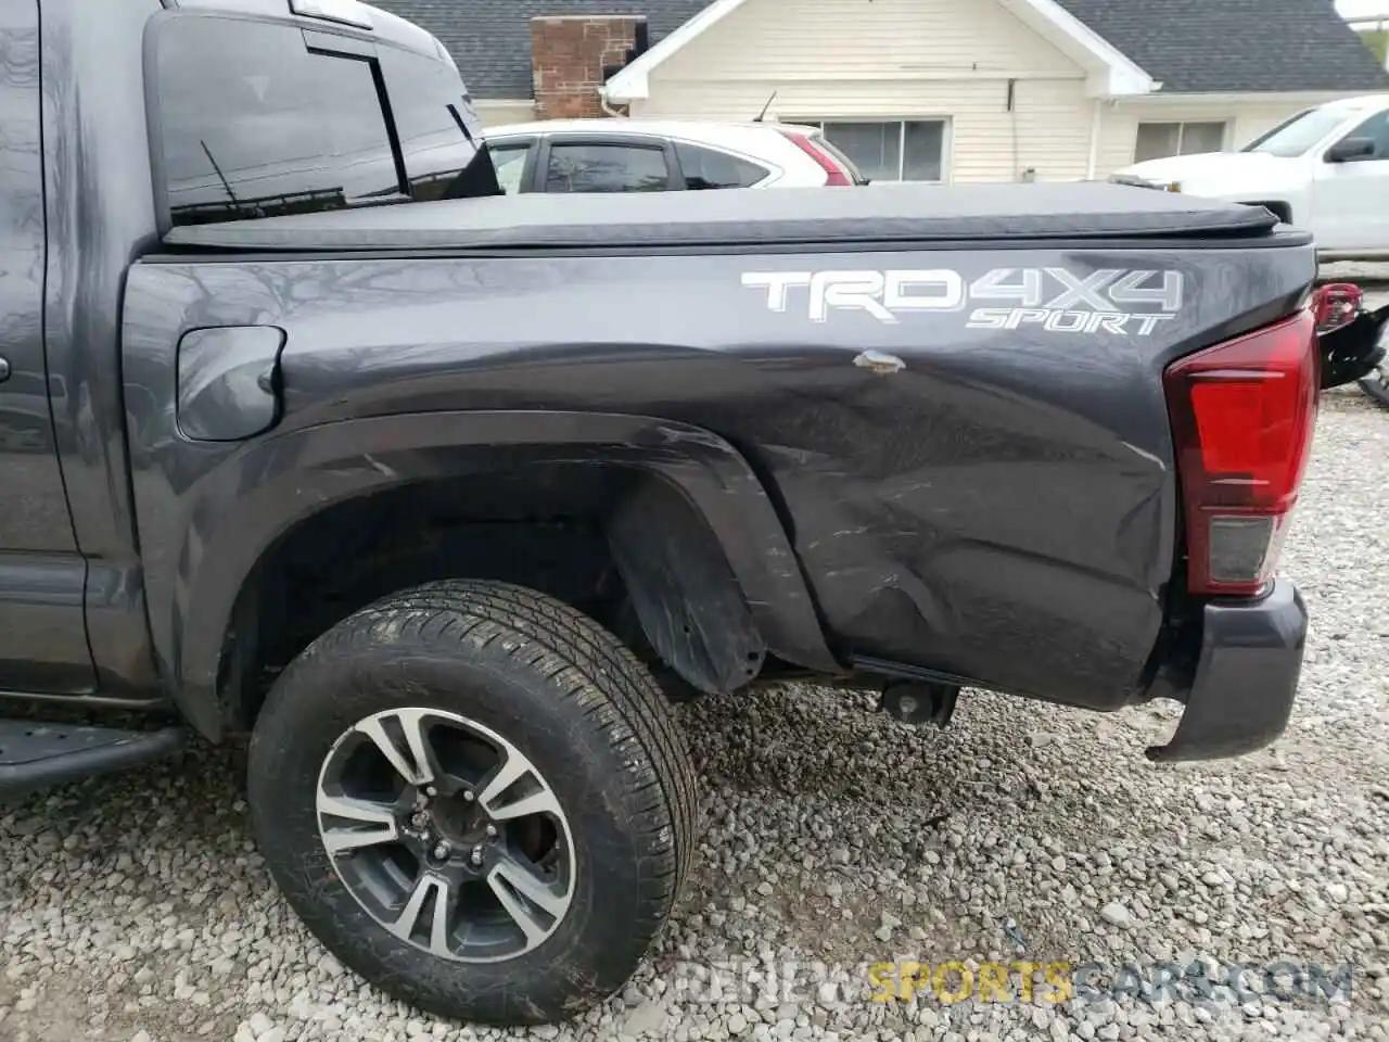
<svg viewBox="0 0 1389 1042"><path fill-rule="evenodd" d="M521 250L1267 235L1263 207L1099 182L525 195L186 225L169 246Z"/></svg>

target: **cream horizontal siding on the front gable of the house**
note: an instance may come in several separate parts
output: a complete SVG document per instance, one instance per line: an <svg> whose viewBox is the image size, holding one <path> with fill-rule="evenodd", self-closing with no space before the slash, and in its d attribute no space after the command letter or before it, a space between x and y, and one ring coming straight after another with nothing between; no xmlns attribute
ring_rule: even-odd
<svg viewBox="0 0 1389 1042"><path fill-rule="evenodd" d="M1008 110L1008 81L1014 106ZM1085 72L993 0L749 0L651 72L633 117L946 118L946 178L1083 178Z"/></svg>

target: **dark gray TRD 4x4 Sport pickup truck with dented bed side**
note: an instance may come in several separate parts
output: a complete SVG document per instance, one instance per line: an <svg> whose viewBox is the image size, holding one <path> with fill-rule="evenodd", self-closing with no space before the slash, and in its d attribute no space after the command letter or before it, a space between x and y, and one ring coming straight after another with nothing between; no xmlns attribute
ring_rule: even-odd
<svg viewBox="0 0 1389 1042"><path fill-rule="evenodd" d="M1267 211L497 197L351 0L3 0L0 61L0 789L249 736L276 882L393 995L626 981L694 853L672 699L1283 728L1315 265Z"/></svg>

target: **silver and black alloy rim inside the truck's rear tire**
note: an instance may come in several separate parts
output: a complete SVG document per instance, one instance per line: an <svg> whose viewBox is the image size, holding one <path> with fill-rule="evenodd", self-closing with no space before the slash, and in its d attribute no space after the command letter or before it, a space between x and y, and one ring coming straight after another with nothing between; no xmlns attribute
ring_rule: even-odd
<svg viewBox="0 0 1389 1042"><path fill-rule="evenodd" d="M574 841L554 791L511 742L456 713L358 721L324 757L317 811L357 903L442 959L525 954L574 898Z"/></svg>

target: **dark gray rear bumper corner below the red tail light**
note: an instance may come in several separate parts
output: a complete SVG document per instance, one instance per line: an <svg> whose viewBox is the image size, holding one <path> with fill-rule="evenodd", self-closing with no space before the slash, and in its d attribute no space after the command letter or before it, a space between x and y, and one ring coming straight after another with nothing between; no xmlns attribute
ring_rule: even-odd
<svg viewBox="0 0 1389 1042"><path fill-rule="evenodd" d="M1307 642L1307 607L1289 579L1256 602L1204 607L1201 650L1186 711L1158 763L1215 760L1263 749L1292 714Z"/></svg>

